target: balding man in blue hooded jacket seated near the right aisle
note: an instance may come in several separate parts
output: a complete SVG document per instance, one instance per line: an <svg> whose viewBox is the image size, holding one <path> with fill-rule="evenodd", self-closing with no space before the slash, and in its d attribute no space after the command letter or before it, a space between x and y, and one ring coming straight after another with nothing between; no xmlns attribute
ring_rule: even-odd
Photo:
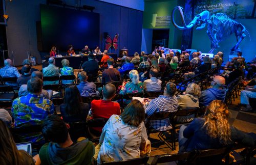
<svg viewBox="0 0 256 165"><path fill-rule="evenodd" d="M225 78L222 76L215 76L211 81L212 88L202 91L199 103L201 106L207 106L212 100L225 101L226 88Z"/></svg>

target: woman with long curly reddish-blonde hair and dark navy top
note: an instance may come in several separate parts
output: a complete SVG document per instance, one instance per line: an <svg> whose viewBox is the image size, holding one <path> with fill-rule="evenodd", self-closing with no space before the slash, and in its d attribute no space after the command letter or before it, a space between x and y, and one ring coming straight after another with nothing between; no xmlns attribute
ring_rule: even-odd
<svg viewBox="0 0 256 165"><path fill-rule="evenodd" d="M179 153L218 149L234 142L242 143L245 146L254 146L251 136L229 126L229 110L223 101L214 100L208 105L207 109L208 114L204 118L195 118L187 127L181 126ZM222 162L220 160L220 162L211 164L222 164Z"/></svg>

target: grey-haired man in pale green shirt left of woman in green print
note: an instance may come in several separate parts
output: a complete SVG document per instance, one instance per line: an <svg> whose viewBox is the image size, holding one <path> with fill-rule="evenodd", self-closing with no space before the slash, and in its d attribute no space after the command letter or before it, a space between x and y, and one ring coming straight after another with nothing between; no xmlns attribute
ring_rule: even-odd
<svg viewBox="0 0 256 165"><path fill-rule="evenodd" d="M42 74L47 76L59 76L59 68L55 66L55 59L53 57L49 58L48 67L42 68ZM59 81L44 81L44 85L59 84Z"/></svg>

